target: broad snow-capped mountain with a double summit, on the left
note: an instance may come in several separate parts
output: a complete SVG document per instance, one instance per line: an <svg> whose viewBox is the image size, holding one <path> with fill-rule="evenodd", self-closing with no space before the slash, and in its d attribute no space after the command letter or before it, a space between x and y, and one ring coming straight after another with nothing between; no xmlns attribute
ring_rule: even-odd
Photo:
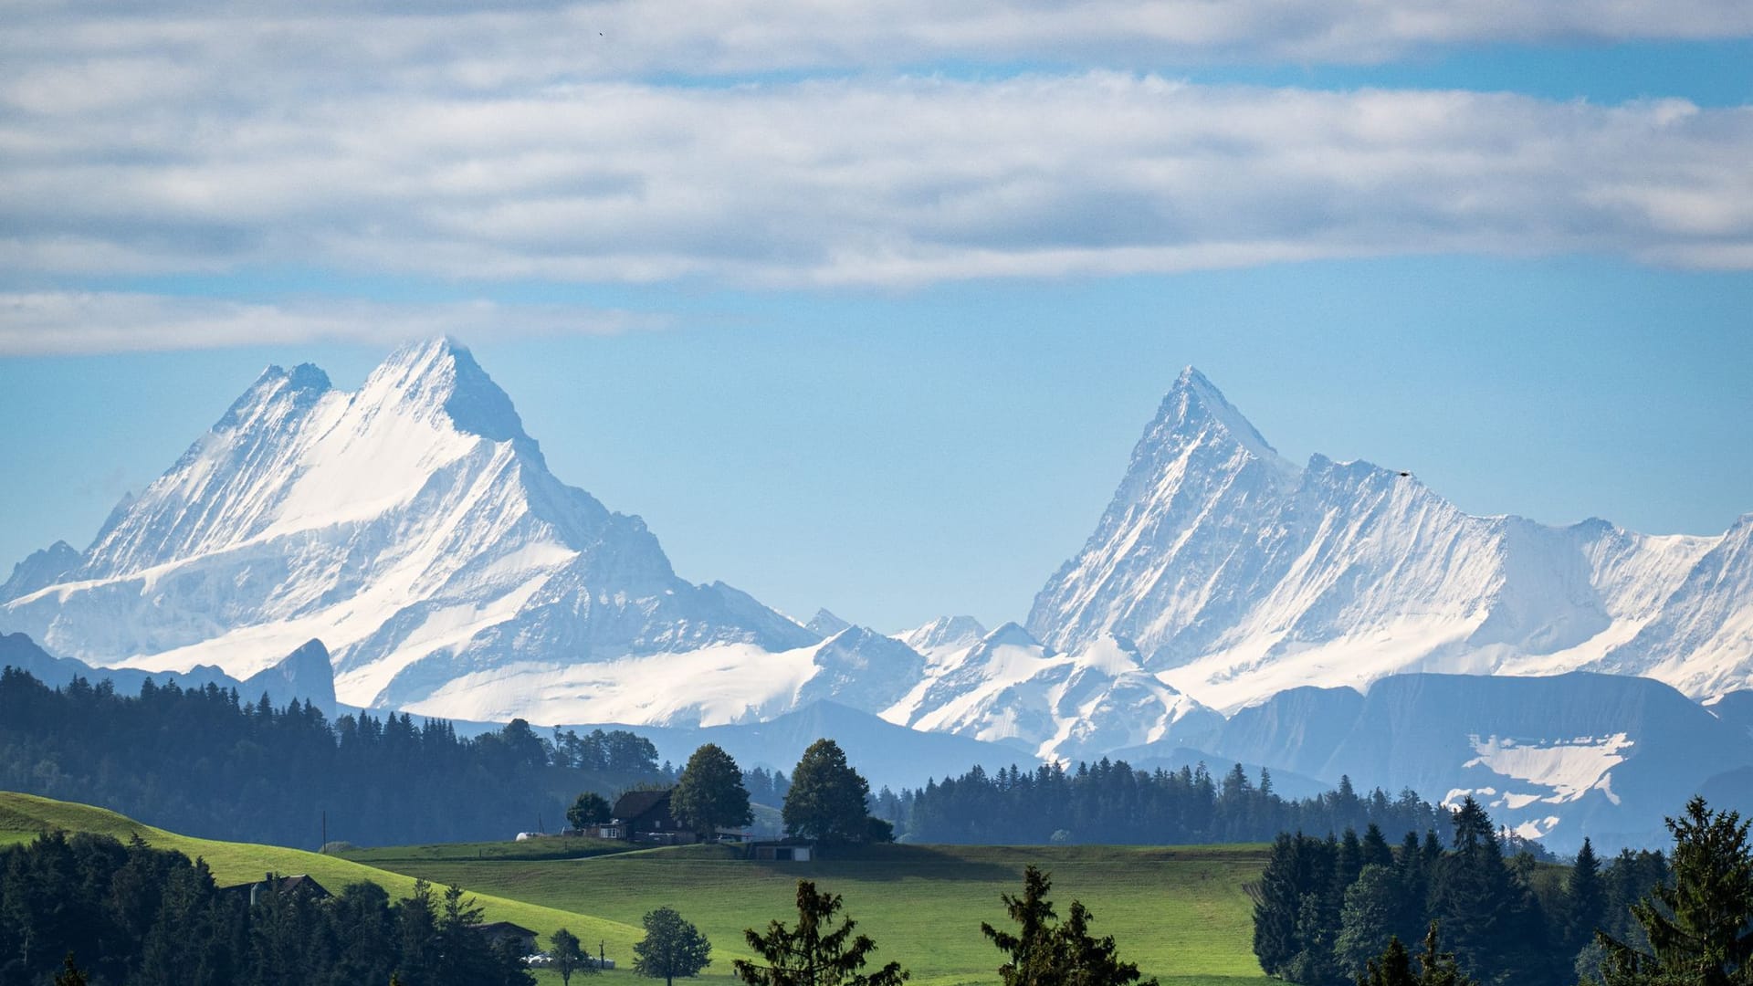
<svg viewBox="0 0 1753 986"><path fill-rule="evenodd" d="M356 393L270 367L75 554L21 565L0 626L89 663L237 677L319 639L342 702L459 718L571 698L552 719L624 718L580 716L591 695L564 675L545 691L468 684L577 667L645 682L622 698L652 716L736 718L773 695L668 700L685 668L657 656L738 665L778 691L810 656L764 656L820 640L729 586L678 579L638 518L554 479L505 391L449 340L400 349Z"/></svg>

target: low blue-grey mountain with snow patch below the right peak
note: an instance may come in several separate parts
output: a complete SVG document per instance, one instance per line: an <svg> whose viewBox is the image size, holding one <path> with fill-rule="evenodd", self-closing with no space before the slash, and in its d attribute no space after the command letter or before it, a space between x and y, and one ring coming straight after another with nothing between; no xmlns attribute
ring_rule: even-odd
<svg viewBox="0 0 1753 986"><path fill-rule="evenodd" d="M1455 804L1574 849L1653 846L1662 818L1753 767L1744 726L1646 677L1402 674L1295 688L1236 712L1213 747L1329 784ZM1732 805L1723 805L1732 807ZM1744 805L1742 805L1744 807Z"/></svg>

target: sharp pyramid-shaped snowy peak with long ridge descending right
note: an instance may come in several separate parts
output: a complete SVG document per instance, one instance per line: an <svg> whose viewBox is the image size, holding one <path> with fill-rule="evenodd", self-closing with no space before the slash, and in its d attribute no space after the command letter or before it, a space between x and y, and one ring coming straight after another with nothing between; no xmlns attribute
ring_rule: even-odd
<svg viewBox="0 0 1753 986"><path fill-rule="evenodd" d="M1224 711L1409 670L1600 668L1702 697L1753 682L1749 528L1555 528L1469 516L1366 461L1297 468L1189 368L1027 626L1062 651L1134 640Z"/></svg>

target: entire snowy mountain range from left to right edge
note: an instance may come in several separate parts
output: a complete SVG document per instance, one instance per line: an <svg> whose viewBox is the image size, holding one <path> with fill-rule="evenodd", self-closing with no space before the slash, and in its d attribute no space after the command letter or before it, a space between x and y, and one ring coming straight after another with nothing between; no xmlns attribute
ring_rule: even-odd
<svg viewBox="0 0 1753 986"><path fill-rule="evenodd" d="M1203 751L1476 791L1530 835L1643 832L1676 805L1616 800L1660 788L1637 777L1753 765L1746 730L1688 700L1753 684L1749 537L1753 516L1716 537L1476 518L1401 470L1297 467L1189 368L1026 623L799 623L678 577L640 518L549 472L468 349L431 340L351 393L265 370L89 547L16 565L0 632L237 681L317 642L333 700L463 721L692 735L841 709L1022 761ZM1574 689L1600 712L1536 714ZM1669 733L1727 753L1681 768ZM1367 756L1383 744L1399 760Z"/></svg>

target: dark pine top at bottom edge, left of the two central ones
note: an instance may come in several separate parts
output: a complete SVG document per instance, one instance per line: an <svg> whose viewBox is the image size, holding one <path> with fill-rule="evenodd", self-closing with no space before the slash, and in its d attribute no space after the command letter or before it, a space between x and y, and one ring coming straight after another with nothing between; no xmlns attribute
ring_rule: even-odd
<svg viewBox="0 0 1753 986"><path fill-rule="evenodd" d="M824 740L826 742L826 740ZM815 749L815 747L812 747ZM838 747L836 747L838 749ZM808 754L805 754L808 756ZM796 781L794 781L796 782ZM869 935L854 935L855 921L840 918L838 893L817 893L798 881L798 926L771 921L766 933L749 928L743 937L761 963L736 960L731 970L749 986L899 986L908 979L899 963L861 972L876 951Z"/></svg>

